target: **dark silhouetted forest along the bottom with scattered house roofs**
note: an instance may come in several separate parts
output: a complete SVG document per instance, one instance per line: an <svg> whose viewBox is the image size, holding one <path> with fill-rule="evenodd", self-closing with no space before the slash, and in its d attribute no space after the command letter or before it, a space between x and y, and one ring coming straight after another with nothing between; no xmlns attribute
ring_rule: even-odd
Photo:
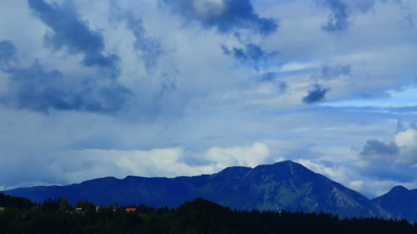
<svg viewBox="0 0 417 234"><path fill-rule="evenodd" d="M0 233L417 233L417 223L407 220L232 210L204 198L175 209L125 208L96 207L87 200L71 205L66 198L36 204L0 193Z"/></svg>

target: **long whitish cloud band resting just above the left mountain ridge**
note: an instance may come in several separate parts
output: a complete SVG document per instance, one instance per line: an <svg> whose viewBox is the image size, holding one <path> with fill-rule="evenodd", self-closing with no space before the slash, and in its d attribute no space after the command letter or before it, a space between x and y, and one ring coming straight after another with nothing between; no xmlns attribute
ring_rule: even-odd
<svg viewBox="0 0 417 234"><path fill-rule="evenodd" d="M269 148L261 142L255 142L250 146L211 147L192 153L206 160L206 163L191 164L187 161L191 152L182 147L147 150L89 148L49 153L34 161L28 170L30 174L33 173L30 176L32 181L43 182L50 177L48 181L51 183L68 184L108 176L178 177L213 174L229 166L254 167L273 162L269 160ZM2 167L3 165L0 165L0 168ZM45 170L40 172L38 168ZM14 171L14 174L25 177L24 174L19 175L19 170ZM10 185L9 181L14 181L14 178L0 178L0 185Z"/></svg>

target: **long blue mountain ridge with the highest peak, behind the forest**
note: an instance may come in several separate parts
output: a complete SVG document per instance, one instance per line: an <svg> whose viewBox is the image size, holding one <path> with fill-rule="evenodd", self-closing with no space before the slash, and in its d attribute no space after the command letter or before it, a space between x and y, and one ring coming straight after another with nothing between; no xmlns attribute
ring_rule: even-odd
<svg viewBox="0 0 417 234"><path fill-rule="evenodd" d="M328 211L339 216L390 217L379 205L358 192L293 161L255 168L230 167L197 177L106 177L67 186L38 186L5 191L36 202L66 197L70 203L91 200L98 205L147 204L177 207L197 197L233 209Z"/></svg>

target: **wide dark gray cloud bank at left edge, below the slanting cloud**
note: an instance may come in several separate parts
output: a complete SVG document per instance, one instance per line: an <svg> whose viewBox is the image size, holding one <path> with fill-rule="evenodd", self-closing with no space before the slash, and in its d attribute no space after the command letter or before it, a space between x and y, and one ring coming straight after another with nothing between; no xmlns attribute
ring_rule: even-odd
<svg viewBox="0 0 417 234"><path fill-rule="evenodd" d="M112 114L130 97L130 90L115 81L99 85L86 79L79 88L68 88L58 70L45 70L35 62L29 68L10 68L7 92L0 95L3 105L16 109L48 112L51 109Z"/></svg>

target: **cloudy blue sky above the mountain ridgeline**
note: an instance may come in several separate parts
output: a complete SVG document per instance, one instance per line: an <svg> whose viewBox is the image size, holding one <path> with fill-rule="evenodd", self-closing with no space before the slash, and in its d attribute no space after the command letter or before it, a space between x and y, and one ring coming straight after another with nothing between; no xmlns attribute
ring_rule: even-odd
<svg viewBox="0 0 417 234"><path fill-rule="evenodd" d="M417 188L417 1L0 1L0 189L296 161Z"/></svg>

